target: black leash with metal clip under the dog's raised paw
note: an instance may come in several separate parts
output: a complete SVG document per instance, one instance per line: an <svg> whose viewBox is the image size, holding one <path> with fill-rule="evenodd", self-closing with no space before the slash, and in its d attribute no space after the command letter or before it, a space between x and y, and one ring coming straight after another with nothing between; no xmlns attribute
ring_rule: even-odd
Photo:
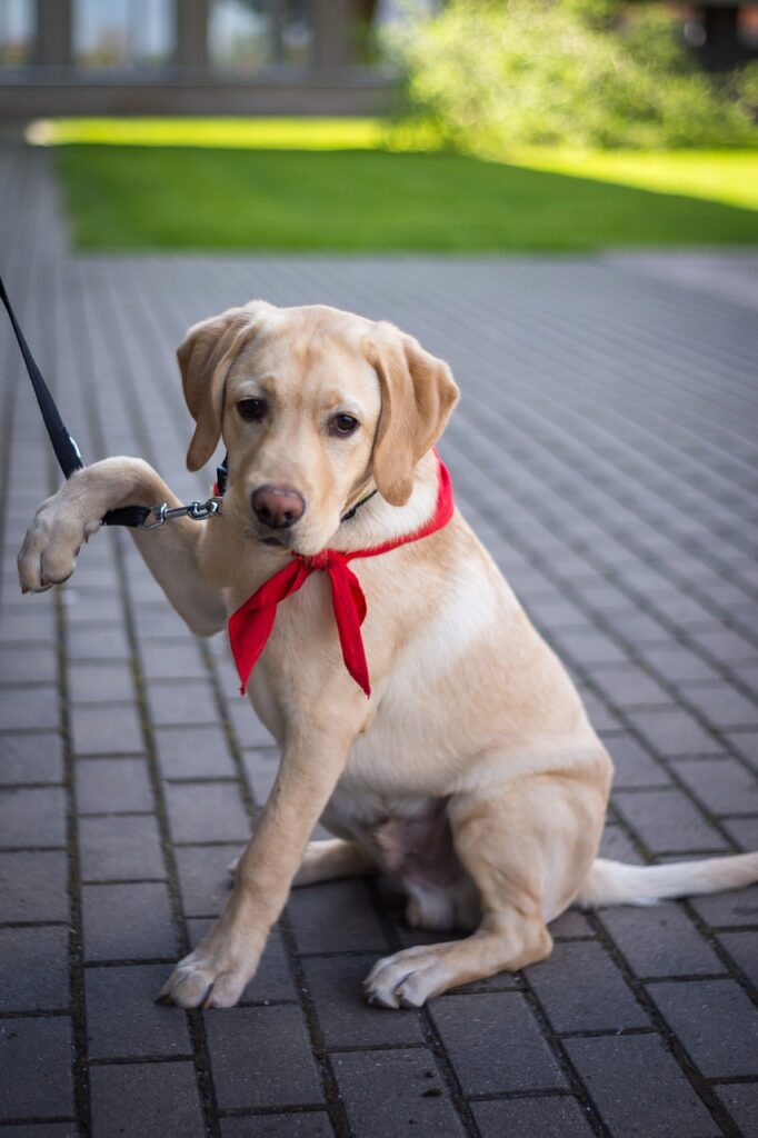
<svg viewBox="0 0 758 1138"><path fill-rule="evenodd" d="M13 310L10 298L6 291L6 286L2 282L2 277L0 277L0 300L2 300L6 307L6 312L8 313L10 323L16 335L16 340L18 341L18 347L20 348L20 353L24 357L26 371L28 372L28 378L32 381L36 402L42 413L42 421L44 422L47 432L50 436L52 448L56 452L56 459L58 460L58 464L65 477L71 478L73 473L77 470L82 470L84 467L81 451L60 418L60 412L58 411L56 401L52 398L50 389L42 378L42 372L38 368L36 361L30 351L28 344L26 343L24 333L20 330L20 325L16 320L16 314ZM166 502L164 502L163 505L156 506L125 505L121 506L118 510L109 510L102 519L102 525L130 526L132 529L156 529L158 526L163 526L164 521L167 521L170 518L180 516L187 516L192 518L195 521L204 521L206 518L211 518L214 513L219 512L221 497L226 489L228 479L226 459L224 459L217 471L217 494L215 497L208 498L207 502L192 502L190 505L176 506L175 509L170 509ZM147 519L150 516L153 516L156 520L148 523Z"/></svg>

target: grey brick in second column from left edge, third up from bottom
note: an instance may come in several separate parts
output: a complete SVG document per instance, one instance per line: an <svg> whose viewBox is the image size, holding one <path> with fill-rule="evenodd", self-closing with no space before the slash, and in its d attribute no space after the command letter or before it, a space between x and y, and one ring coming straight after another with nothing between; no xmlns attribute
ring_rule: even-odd
<svg viewBox="0 0 758 1138"><path fill-rule="evenodd" d="M88 960L147 960L176 956L166 887L162 882L83 885Z"/></svg>

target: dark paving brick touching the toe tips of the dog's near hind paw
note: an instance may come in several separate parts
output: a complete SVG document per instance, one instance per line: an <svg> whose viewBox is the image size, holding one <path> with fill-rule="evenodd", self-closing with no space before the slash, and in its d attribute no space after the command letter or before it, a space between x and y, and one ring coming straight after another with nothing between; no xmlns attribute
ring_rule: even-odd
<svg viewBox="0 0 758 1138"><path fill-rule="evenodd" d="M377 1015L377 1008L366 1004L362 984L372 965L371 957L336 956L304 960L305 978L327 1047L423 1042L415 1012Z"/></svg>

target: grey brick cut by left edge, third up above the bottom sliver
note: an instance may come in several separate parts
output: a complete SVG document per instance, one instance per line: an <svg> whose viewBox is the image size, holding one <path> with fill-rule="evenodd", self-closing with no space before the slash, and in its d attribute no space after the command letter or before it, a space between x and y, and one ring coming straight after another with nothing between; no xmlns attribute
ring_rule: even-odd
<svg viewBox="0 0 758 1138"><path fill-rule="evenodd" d="M64 850L0 852L0 921L68 921Z"/></svg>

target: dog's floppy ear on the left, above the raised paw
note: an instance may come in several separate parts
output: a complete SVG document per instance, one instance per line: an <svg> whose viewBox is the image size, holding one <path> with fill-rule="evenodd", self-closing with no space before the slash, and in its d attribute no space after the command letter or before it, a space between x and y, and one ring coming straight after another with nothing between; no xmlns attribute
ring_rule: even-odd
<svg viewBox="0 0 758 1138"><path fill-rule="evenodd" d="M190 328L178 347L184 399L196 423L187 451L190 470L204 467L215 451L221 437L226 372L272 308L273 305L265 300L252 300L242 308L228 308L220 316Z"/></svg>

